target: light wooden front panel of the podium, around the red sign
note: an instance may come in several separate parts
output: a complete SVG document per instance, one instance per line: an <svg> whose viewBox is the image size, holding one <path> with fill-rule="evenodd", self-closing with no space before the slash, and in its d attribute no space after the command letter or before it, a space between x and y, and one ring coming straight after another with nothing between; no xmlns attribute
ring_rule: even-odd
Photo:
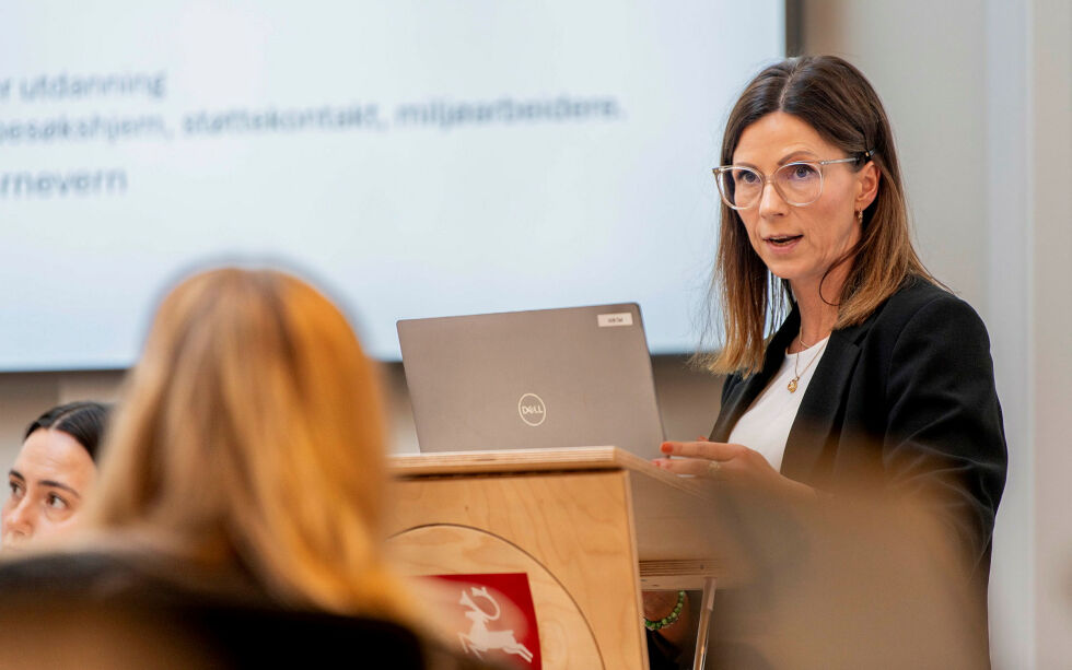
<svg viewBox="0 0 1072 670"><path fill-rule="evenodd" d="M628 478L606 470L403 479L392 487L388 546L411 576L527 575L543 668L646 670ZM458 608L468 608L476 622L482 603L462 600L444 593L441 607L454 610L442 619L462 621ZM441 633L459 645L471 638L464 625ZM488 657L528 667L520 654Z"/></svg>

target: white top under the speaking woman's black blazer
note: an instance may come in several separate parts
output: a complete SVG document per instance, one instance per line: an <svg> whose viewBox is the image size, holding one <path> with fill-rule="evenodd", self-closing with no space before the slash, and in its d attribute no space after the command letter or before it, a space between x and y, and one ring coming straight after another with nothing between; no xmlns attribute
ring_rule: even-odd
<svg viewBox="0 0 1072 670"><path fill-rule="evenodd" d="M730 442L759 451L774 470L781 469L789 431L793 427L804 391L819 366L819 358L829 340L827 336L799 354L785 354L778 374L733 426ZM801 377L796 380L796 390L790 392L788 387L797 371Z"/></svg>

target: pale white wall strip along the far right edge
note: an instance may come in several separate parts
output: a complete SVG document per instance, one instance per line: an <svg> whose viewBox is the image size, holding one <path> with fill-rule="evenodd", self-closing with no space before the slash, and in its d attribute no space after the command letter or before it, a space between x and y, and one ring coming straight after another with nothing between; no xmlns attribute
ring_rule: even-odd
<svg viewBox="0 0 1072 670"><path fill-rule="evenodd" d="M1038 668L1072 668L1072 2L1027 5L1034 640Z"/></svg>

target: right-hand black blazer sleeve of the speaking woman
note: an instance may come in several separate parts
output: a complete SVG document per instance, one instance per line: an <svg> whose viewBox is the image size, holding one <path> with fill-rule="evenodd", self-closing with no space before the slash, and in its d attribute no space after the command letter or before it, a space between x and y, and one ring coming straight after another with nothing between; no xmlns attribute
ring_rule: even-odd
<svg viewBox="0 0 1072 670"><path fill-rule="evenodd" d="M986 326L945 295L897 337L886 375L883 465L897 489L930 496L971 566L989 561L1007 455Z"/></svg>

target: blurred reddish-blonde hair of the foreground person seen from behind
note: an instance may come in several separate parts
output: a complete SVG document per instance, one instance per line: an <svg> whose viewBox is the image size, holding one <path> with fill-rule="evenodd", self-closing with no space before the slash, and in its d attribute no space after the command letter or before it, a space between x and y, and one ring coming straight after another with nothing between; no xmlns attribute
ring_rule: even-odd
<svg viewBox="0 0 1072 670"><path fill-rule="evenodd" d="M236 567L283 603L405 619L382 557L375 377L347 319L307 283L244 269L187 279L127 381L93 525Z"/></svg>

